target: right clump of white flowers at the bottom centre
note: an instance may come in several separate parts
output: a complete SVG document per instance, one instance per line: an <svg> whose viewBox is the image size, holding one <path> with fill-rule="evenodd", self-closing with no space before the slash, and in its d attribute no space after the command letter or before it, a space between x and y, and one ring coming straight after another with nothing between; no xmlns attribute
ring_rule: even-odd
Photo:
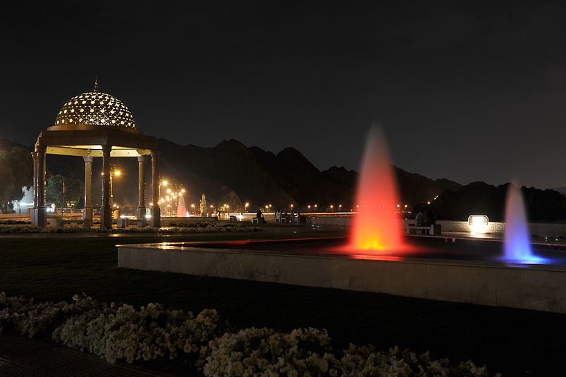
<svg viewBox="0 0 566 377"><path fill-rule="evenodd" d="M202 351L205 376L489 376L473 362L450 365L398 347L378 352L371 346L330 347L326 331L299 328L278 333L246 328L226 333Z"/></svg>

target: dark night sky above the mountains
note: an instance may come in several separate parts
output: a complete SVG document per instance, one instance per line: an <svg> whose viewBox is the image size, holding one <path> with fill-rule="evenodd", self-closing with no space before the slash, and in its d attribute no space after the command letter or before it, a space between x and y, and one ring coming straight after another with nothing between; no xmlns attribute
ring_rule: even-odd
<svg viewBox="0 0 566 377"><path fill-rule="evenodd" d="M180 144L357 169L380 122L400 168L563 185L566 3L467 3L0 0L0 137L32 144L98 74Z"/></svg>

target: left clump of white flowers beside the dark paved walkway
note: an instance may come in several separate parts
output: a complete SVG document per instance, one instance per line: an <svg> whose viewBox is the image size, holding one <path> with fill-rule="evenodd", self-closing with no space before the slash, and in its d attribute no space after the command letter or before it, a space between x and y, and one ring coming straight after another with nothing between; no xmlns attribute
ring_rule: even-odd
<svg viewBox="0 0 566 377"><path fill-rule="evenodd" d="M159 304L136 310L126 304L98 304L77 295L71 304L35 303L0 292L0 331L13 330L29 337L44 335L112 363L173 360L179 353L192 353L196 358L225 326L216 310L202 310L195 317L191 312L168 310Z"/></svg>

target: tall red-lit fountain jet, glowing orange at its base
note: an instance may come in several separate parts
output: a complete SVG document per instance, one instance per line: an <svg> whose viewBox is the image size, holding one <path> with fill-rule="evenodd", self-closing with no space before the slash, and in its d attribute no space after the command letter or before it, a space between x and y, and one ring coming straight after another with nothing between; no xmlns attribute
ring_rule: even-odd
<svg viewBox="0 0 566 377"><path fill-rule="evenodd" d="M403 222L396 213L399 195L389 150L385 138L373 125L366 142L360 177L357 182L351 247L382 252L402 252L407 249Z"/></svg>

